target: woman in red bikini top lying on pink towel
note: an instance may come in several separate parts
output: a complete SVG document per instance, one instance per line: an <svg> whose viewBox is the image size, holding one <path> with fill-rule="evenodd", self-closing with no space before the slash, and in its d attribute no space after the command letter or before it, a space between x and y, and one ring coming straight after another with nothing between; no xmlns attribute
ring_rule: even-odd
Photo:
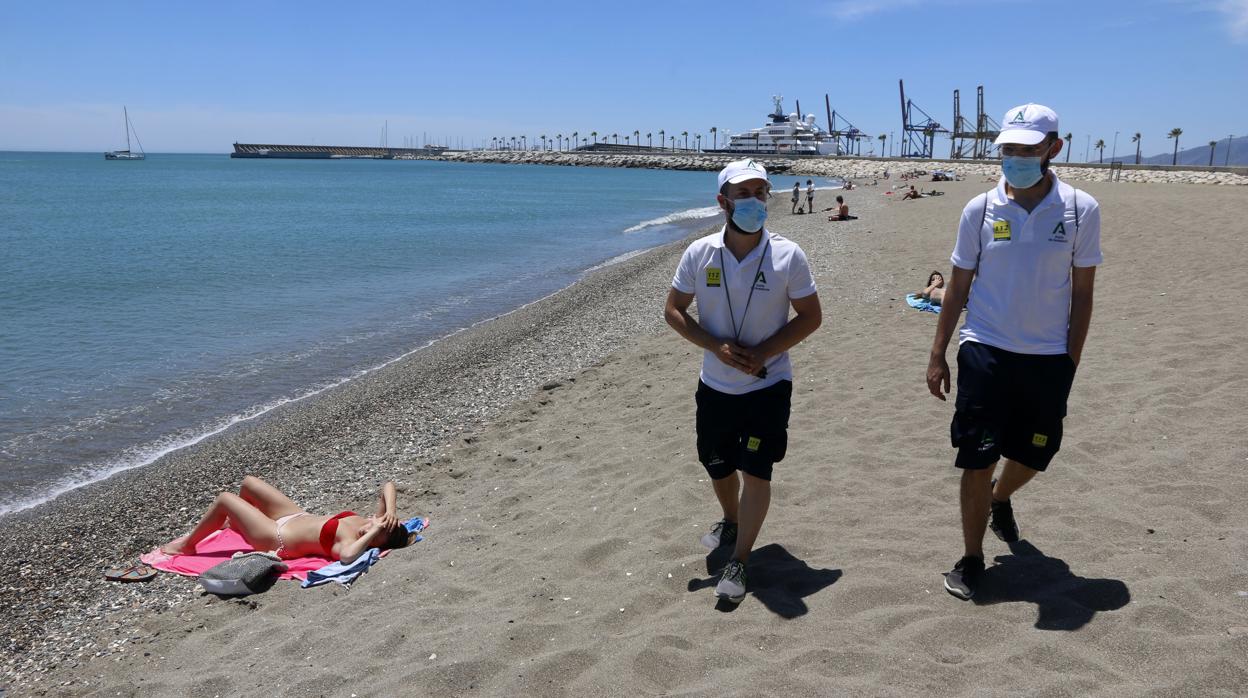
<svg viewBox="0 0 1248 698"><path fill-rule="evenodd" d="M257 551L273 551L283 559L318 556L354 562L368 548L402 548L416 538L394 516L394 483L378 493L377 513L317 516L258 477L242 478L242 489L222 492L195 528L163 546L167 554L191 554L195 546L228 523Z"/></svg>

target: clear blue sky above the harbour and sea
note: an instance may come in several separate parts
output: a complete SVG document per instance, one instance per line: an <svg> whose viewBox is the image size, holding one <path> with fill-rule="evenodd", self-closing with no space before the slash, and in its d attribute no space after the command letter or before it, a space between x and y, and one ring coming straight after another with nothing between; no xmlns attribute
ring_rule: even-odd
<svg viewBox="0 0 1248 698"><path fill-rule="evenodd" d="M1055 109L1075 157L1248 136L1248 0L0 4L0 150L474 146L761 126L771 95L872 135ZM973 116L972 116L973 117ZM1117 134L1117 145L1112 145ZM948 141L937 141L937 154ZM1092 155L1094 157L1094 154Z"/></svg>

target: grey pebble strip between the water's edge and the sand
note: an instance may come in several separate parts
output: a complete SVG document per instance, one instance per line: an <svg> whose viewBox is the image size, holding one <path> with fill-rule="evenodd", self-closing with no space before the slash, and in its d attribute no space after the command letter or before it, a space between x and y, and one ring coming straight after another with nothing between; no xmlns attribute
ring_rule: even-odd
<svg viewBox="0 0 1248 698"><path fill-rule="evenodd" d="M699 232L695 235L705 235ZM255 473L308 511L371 506L394 479L399 497L437 502L439 451L504 408L574 381L582 368L665 327L661 303L691 237L589 272L510 313L417 350L373 373L240 425L150 466L0 518L0 694L122 652L144 614L201 602L195 581L105 582L102 571L185 533L222 489ZM604 321L604 318L609 318ZM437 477L436 477L437 476ZM449 477L457 477L451 472ZM334 509L337 511L337 509Z"/></svg>

